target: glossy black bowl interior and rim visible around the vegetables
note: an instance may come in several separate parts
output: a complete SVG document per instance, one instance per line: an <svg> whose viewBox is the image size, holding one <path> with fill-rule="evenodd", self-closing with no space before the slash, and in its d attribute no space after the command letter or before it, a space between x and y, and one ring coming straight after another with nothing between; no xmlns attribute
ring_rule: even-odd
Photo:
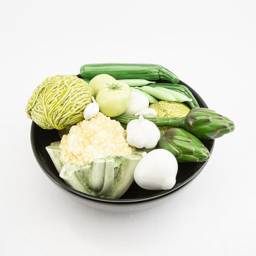
<svg viewBox="0 0 256 256"><path fill-rule="evenodd" d="M78 75L79 77L79 75ZM165 80L160 80L159 82L170 83ZM180 81L180 84L186 86L196 98L200 107L207 108L207 105L202 100L202 98L187 84ZM83 202L84 200L91 200L96 202L108 203L108 204L132 204L132 203L142 203L150 200L156 200L160 197L165 197L174 191L177 191L182 186L191 181L199 172L204 168L207 162L204 163L179 163L178 173L176 177L176 184L170 190L145 190L140 188L135 182L130 186L126 193L120 199L106 199L91 196L80 191L77 191L69 187L60 177L55 169L54 164L52 163L51 158L46 152L45 147L49 146L51 142L60 140L58 131L55 129L45 130L40 128L36 123L32 122L31 125L31 145L35 155L35 158L45 172L45 174L60 188L67 192L70 197L75 197L77 201ZM213 150L214 140L202 141L205 147L211 153ZM71 193L71 194L70 194ZM80 197L80 198L77 198ZM82 200L82 201L81 201ZM86 203L85 203L86 204Z"/></svg>

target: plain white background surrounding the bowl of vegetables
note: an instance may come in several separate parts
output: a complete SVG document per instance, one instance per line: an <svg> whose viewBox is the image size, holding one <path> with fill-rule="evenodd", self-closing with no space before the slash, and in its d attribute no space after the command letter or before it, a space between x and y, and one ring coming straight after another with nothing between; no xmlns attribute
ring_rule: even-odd
<svg viewBox="0 0 256 256"><path fill-rule="evenodd" d="M0 255L255 255L255 1L1 1ZM86 63L158 63L233 120L187 189L107 213L64 195L30 146L28 98Z"/></svg>

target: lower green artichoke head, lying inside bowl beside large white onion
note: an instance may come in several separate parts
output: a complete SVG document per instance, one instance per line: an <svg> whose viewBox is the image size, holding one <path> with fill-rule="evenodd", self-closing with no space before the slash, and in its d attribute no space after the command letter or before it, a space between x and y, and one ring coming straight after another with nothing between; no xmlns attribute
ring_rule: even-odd
<svg viewBox="0 0 256 256"><path fill-rule="evenodd" d="M199 139L180 128L170 127L166 132L161 132L156 147L170 151L179 163L201 163L210 157L208 149Z"/></svg>

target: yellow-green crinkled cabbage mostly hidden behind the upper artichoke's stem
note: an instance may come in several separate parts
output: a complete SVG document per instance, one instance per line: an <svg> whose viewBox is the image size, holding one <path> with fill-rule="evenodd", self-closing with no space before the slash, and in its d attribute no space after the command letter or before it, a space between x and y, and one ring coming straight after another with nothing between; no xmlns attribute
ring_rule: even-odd
<svg viewBox="0 0 256 256"><path fill-rule="evenodd" d="M149 108L155 109L157 117L183 117L189 113L189 108L179 102L159 101L151 104Z"/></svg>

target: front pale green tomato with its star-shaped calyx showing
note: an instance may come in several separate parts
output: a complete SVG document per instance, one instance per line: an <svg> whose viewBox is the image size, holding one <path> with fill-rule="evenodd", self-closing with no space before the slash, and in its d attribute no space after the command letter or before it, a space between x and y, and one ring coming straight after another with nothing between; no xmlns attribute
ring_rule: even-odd
<svg viewBox="0 0 256 256"><path fill-rule="evenodd" d="M126 83L113 81L100 85L96 102L100 112L106 116L114 117L124 113L131 98L131 91Z"/></svg>

